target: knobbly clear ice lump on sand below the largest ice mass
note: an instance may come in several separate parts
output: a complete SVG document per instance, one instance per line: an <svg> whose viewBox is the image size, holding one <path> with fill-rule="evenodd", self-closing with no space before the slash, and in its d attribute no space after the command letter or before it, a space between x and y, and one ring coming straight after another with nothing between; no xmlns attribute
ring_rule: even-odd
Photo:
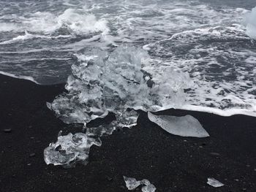
<svg viewBox="0 0 256 192"><path fill-rule="evenodd" d="M76 162L87 164L91 145L100 146L101 142L83 133L59 135L56 143L45 148L45 163L65 167L75 166Z"/></svg>

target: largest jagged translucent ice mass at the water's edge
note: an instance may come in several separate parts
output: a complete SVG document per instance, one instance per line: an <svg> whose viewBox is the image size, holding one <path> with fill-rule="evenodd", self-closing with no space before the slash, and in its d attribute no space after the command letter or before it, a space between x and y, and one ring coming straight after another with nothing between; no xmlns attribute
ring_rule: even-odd
<svg viewBox="0 0 256 192"><path fill-rule="evenodd" d="M117 126L130 127L138 118L135 110L165 110L184 102L187 76L181 74L180 83L169 70L155 80L143 70L148 55L142 49L124 45L108 55L87 47L77 56L78 64L72 66L67 80L68 93L48 103L65 123L86 125L114 112Z"/></svg>

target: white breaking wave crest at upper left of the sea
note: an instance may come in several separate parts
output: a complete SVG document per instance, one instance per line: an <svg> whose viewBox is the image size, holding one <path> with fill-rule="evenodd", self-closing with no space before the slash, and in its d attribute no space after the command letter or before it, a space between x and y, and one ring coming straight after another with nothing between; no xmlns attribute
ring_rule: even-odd
<svg viewBox="0 0 256 192"><path fill-rule="evenodd" d="M0 31L32 31L51 34L61 28L71 33L88 34L102 31L108 33L107 20L99 19L83 9L66 9L60 15L51 12L34 12L33 15L18 17L17 23L2 23Z"/></svg>

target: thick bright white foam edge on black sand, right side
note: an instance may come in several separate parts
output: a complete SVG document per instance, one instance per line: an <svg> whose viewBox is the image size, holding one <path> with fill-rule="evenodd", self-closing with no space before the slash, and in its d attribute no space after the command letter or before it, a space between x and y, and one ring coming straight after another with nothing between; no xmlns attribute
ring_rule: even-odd
<svg viewBox="0 0 256 192"><path fill-rule="evenodd" d="M184 106L176 107L176 110L189 110L189 111L197 111L197 112L208 112L215 115L229 117L232 115L248 115L252 117L256 117L256 111L246 110L246 109L227 109L227 110L220 110L217 108L212 107L203 107L203 106L196 106L192 104L184 104Z"/></svg>

